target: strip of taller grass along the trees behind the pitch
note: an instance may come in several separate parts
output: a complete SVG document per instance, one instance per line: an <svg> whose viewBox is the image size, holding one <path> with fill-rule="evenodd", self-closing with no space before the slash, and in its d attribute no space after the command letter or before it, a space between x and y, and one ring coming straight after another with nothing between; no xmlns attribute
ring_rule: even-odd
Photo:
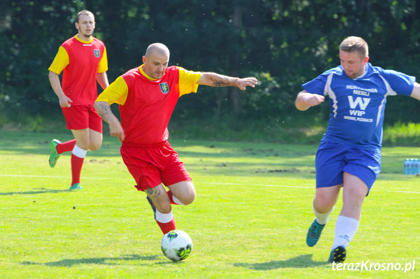
<svg viewBox="0 0 420 279"><path fill-rule="evenodd" d="M118 112L114 112L118 115ZM66 133L62 115L45 118L28 115L16 119L2 119L0 131L27 131L39 133ZM2 121L4 120L4 121ZM206 119L171 119L168 130L170 138L182 140L210 140L229 142L280 143L317 145L327 128L327 122L318 118L274 118L263 120L239 119L233 116ZM109 125L104 125L104 134L109 134ZM384 124L384 146L420 147L420 123Z"/></svg>

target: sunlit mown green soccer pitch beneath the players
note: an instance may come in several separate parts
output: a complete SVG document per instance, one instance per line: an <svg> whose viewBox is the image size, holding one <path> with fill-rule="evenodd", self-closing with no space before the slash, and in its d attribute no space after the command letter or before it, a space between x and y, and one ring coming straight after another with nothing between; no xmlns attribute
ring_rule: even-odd
<svg viewBox="0 0 420 279"><path fill-rule="evenodd" d="M48 165L54 137L71 139L0 131L1 279L420 277L420 177L402 174L403 160L419 158L420 148L383 148L383 172L345 262L374 265L337 270L327 260L341 199L318 244L305 243L316 146L172 140L197 189L192 205L173 209L194 246L172 263L118 140L106 137L88 153L85 190L71 192L69 154ZM404 272L413 261L415 270Z"/></svg>

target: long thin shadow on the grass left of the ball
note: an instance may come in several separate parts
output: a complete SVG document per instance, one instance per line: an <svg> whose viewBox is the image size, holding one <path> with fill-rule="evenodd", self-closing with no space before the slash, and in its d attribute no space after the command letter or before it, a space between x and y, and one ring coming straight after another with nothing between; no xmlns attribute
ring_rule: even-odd
<svg viewBox="0 0 420 279"><path fill-rule="evenodd" d="M140 256L140 255L123 255L122 257L103 257L103 258L84 258L84 259L64 259L56 262L36 263L23 262L23 265L46 265L46 266L66 266L70 267L76 264L105 264L105 265L119 265L115 261L153 261L160 258L161 255ZM114 263L113 263L114 262Z"/></svg>

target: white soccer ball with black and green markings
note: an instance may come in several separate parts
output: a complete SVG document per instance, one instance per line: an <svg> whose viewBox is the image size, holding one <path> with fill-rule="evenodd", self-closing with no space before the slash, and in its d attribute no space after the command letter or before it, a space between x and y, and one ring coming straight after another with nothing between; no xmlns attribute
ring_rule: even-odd
<svg viewBox="0 0 420 279"><path fill-rule="evenodd" d="M171 230L164 235L161 242L162 252L171 261L182 261L191 253L193 242L183 230Z"/></svg>

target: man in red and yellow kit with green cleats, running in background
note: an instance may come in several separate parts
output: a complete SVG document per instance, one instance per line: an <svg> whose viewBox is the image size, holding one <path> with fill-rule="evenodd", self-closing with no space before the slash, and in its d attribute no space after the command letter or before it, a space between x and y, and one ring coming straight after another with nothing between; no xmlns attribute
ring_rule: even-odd
<svg viewBox="0 0 420 279"><path fill-rule="evenodd" d="M105 45L92 36L95 17L89 11L81 11L77 14L75 27L78 33L60 46L49 67L48 76L59 99L67 129L74 136L68 142L61 143L56 139L51 141L49 163L54 167L61 153L72 151L71 190L83 189L80 173L88 149L101 147L102 119L93 109L93 103L98 97L96 82L103 89L109 85ZM62 71L60 84L58 75Z"/></svg>

